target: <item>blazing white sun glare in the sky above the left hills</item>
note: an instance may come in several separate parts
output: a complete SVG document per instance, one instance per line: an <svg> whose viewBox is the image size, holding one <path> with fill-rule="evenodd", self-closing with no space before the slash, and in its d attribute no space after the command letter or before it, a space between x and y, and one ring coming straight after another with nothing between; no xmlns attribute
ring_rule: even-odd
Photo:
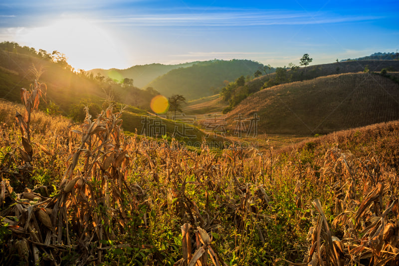
<svg viewBox="0 0 399 266"><path fill-rule="evenodd" d="M75 69L129 65L125 51L118 46L118 39L94 20L62 16L46 24L26 29L20 37L37 49L64 53Z"/></svg>

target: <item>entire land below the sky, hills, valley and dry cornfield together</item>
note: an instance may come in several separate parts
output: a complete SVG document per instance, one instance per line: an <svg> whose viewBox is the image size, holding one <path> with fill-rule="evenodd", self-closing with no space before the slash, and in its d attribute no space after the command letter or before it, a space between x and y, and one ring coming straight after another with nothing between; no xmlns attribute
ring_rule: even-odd
<svg viewBox="0 0 399 266"><path fill-rule="evenodd" d="M396 265L398 60L86 72L2 44L0 264Z"/></svg>

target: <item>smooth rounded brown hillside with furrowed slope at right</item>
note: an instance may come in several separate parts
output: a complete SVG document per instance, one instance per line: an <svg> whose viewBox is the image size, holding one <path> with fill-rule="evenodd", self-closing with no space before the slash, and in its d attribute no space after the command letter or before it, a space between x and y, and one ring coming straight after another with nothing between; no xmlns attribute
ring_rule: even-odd
<svg viewBox="0 0 399 266"><path fill-rule="evenodd" d="M348 73L263 89L227 115L259 117L258 133L324 134L399 118L399 84L374 73ZM247 121L248 123L248 121Z"/></svg>

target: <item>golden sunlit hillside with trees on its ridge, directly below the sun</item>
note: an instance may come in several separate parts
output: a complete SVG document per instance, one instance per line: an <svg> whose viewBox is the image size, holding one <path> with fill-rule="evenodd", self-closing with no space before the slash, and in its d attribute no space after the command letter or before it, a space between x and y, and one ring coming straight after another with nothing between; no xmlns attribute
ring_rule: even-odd
<svg viewBox="0 0 399 266"><path fill-rule="evenodd" d="M149 109L150 101L159 93L154 89L141 90L132 85L122 86L101 75L73 72L62 54L21 47L17 43L0 43L0 98L20 102L21 87L29 88L36 77L34 71L42 70L40 81L48 88L47 100L54 112L65 116L74 114L84 118L83 105L92 106L94 115L100 111L102 101L111 94L115 100ZM45 109L42 105L42 108ZM78 112L79 114L76 114ZM82 118L82 119L83 119Z"/></svg>

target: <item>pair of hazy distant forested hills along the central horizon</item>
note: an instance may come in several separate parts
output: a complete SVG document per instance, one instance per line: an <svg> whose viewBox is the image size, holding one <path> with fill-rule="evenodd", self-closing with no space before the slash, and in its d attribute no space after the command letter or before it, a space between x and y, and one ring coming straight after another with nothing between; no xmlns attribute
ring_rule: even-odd
<svg viewBox="0 0 399 266"><path fill-rule="evenodd" d="M128 69L92 69L93 75L110 77L122 81L133 79L136 87L152 87L169 97L181 94L186 99L210 96L239 76L252 76L263 64L251 60L209 60L179 65L149 64L136 65Z"/></svg>

